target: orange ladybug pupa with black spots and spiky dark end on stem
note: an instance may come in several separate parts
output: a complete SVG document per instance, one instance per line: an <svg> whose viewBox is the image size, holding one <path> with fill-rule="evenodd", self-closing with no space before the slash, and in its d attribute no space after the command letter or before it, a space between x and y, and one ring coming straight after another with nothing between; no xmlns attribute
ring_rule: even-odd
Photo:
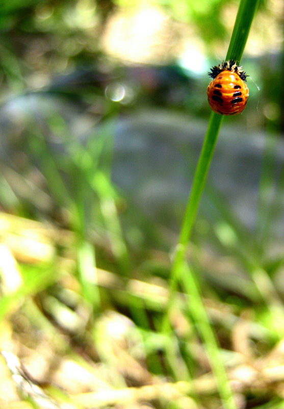
<svg viewBox="0 0 284 409"><path fill-rule="evenodd" d="M247 103L247 75L235 61L225 61L211 68L213 78L207 88L211 109L221 115L240 114Z"/></svg>

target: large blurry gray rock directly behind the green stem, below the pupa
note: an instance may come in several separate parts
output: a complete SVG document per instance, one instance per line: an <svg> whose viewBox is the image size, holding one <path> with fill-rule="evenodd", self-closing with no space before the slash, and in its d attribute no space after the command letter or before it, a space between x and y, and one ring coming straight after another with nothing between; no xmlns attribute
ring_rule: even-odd
<svg viewBox="0 0 284 409"><path fill-rule="evenodd" d="M149 217L160 222L166 214L174 216L177 205L183 212L205 131L204 122L165 111L142 112L120 119L115 136L114 181ZM202 198L204 211L215 206L210 203L213 192L221 195L240 221L253 229L265 140L265 135L234 129L229 120L224 121L209 171L207 186L211 194L205 193ZM275 166L270 169L273 184L283 160L284 142L278 140L271 158ZM281 192L277 195L279 199ZM282 221L283 208L277 212L274 209L274 234L284 236Z"/></svg>

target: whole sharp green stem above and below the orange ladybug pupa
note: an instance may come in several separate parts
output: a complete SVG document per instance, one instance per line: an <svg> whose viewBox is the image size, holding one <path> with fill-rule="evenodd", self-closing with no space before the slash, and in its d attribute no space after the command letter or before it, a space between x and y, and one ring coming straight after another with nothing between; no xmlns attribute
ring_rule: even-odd
<svg viewBox="0 0 284 409"><path fill-rule="evenodd" d="M251 23L257 9L259 0L241 0L236 22L231 36L226 60L235 60L238 64L241 61L243 50L248 38ZM205 134L202 150L200 153L197 168L193 177L193 184L189 195L182 228L179 235L178 244L173 256L171 276L170 276L170 294L167 305L163 329L169 329L169 314L174 301L174 293L177 287L177 280L180 280L183 288L191 295L191 303L188 309L193 318L200 336L208 353L209 361L219 390L223 407L225 409L237 409L233 392L228 382L226 371L222 362L221 352L216 340L214 331L210 325L209 319L203 306L198 283L185 262L187 245L192 233L192 227L196 218L201 194L206 181L206 176L213 157L216 141L218 138L220 126L223 117L215 113L211 114L207 132Z"/></svg>

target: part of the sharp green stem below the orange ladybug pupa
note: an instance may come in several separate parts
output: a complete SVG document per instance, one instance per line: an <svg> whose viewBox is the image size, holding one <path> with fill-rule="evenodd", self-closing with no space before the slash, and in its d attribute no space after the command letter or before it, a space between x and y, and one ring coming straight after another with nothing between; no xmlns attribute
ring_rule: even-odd
<svg viewBox="0 0 284 409"><path fill-rule="evenodd" d="M214 154L222 121L223 116L217 115L215 113L211 114L197 168L194 174L193 184L185 211L182 229L179 235L178 245L176 247L173 258L170 282L170 297L167 307L169 314L171 306L174 302L173 295L176 290L177 280L179 279L180 284L182 284L182 287L184 288L186 293L191 295L191 301L188 305L188 310L196 324L199 334L203 339L205 350L208 354L212 370L216 376L216 382L224 408L237 409L234 395L227 380L226 371L222 362L222 356L218 346L218 342L206 314L198 284L193 275L193 272L185 263L187 244L189 242L192 227L196 218L198 205ZM169 320L165 320L163 329L168 329L168 325Z"/></svg>

